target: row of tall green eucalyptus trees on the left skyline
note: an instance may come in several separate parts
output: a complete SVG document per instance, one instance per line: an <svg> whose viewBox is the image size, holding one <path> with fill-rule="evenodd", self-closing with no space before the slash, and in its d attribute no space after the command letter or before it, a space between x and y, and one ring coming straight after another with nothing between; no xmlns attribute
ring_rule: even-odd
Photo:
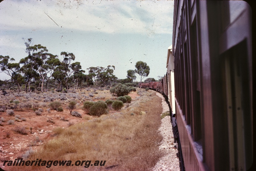
<svg viewBox="0 0 256 171"><path fill-rule="evenodd" d="M88 86L109 88L116 83L132 83L130 78L118 79L114 75L115 66L89 67L88 74L80 62L76 62L73 53L60 52L60 56L48 52L46 46L33 45L32 38L25 41L28 56L19 62L10 56L0 55L1 72L9 75L10 80L1 81L0 87L18 92L56 89L66 92L68 89L82 89ZM127 76L128 77L128 76ZM3 93L5 93L3 91Z"/></svg>

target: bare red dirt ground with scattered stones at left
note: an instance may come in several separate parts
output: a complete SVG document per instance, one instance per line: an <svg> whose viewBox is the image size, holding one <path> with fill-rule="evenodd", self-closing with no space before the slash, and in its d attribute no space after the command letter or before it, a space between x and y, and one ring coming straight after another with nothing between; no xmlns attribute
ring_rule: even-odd
<svg viewBox="0 0 256 171"><path fill-rule="evenodd" d="M129 96L134 99L138 94L131 92ZM82 117L89 116L85 114L84 110L75 111L78 111ZM115 111L110 111L109 113L114 112ZM45 110L42 112L41 116L36 115L33 110L14 110L14 113L14 116L10 116L6 114L6 112L0 112L0 118L3 117L5 120L5 122L2 122L3 126L0 126L0 168L4 168L4 160L22 158L22 154L26 153L30 147L36 150L45 141L52 139L54 137L52 133L53 128L66 128L69 122L77 124L88 121L72 116L69 110L64 110L63 112L51 110L50 113ZM14 125L8 125L7 121L10 119L15 120L15 115L26 118L26 121L15 121ZM61 117L64 117L65 120L68 121L60 120ZM47 119L52 119L55 123L47 122ZM27 134L22 135L16 132L15 129L17 127L25 127ZM32 133L30 132L30 127L32 127ZM7 136L8 133L9 136ZM38 141L36 141L36 139L38 139Z"/></svg>

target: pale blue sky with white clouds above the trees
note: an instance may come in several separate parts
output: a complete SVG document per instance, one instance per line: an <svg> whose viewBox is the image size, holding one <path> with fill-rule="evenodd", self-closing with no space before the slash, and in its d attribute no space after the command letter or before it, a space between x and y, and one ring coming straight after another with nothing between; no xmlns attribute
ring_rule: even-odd
<svg viewBox="0 0 256 171"><path fill-rule="evenodd" d="M124 79L137 61L150 67L147 78L166 74L174 1L70 1L2 1L0 55L19 62L28 56L24 39L32 38L60 59L61 52L74 53L85 74L89 67L114 65L114 75ZM0 73L0 79L9 77Z"/></svg>

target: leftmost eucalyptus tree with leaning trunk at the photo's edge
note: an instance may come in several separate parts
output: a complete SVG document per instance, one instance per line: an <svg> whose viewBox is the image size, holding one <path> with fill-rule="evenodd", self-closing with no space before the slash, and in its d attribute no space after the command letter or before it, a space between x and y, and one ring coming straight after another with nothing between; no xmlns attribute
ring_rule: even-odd
<svg viewBox="0 0 256 171"><path fill-rule="evenodd" d="M20 84L24 81L24 78L20 74L20 64L19 63L11 63L15 61L13 58L9 56L0 55L0 68L1 71L5 74L9 75L13 82L16 83L18 92L21 91ZM10 62L9 62L10 60Z"/></svg>

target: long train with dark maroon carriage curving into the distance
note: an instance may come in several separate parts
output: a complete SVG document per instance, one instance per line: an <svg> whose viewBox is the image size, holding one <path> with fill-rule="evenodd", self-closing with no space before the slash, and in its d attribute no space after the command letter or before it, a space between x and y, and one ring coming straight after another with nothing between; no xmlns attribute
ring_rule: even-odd
<svg viewBox="0 0 256 171"><path fill-rule="evenodd" d="M172 31L167 73L140 86L168 98L185 170L253 170L250 5L174 0Z"/></svg>

